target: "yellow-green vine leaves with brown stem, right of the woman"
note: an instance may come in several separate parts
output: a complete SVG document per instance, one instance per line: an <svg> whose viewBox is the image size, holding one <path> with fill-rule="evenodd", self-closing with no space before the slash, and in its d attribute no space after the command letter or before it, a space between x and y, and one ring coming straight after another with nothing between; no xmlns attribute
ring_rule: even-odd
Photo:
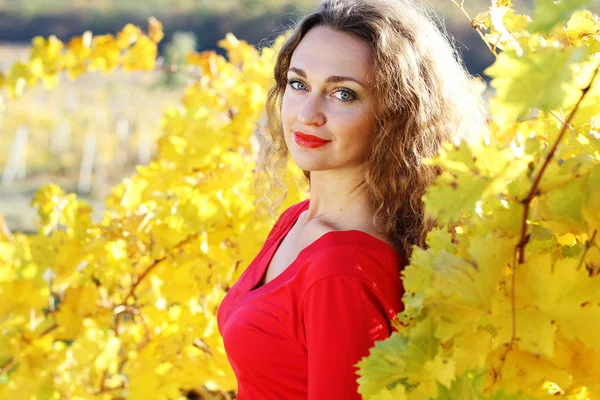
<svg viewBox="0 0 600 400"><path fill-rule="evenodd" d="M600 19L587 3L540 1L530 18L494 0L472 21L497 55L490 135L425 160L444 170L423 197L440 226L402 272L404 326L359 363L364 398L600 398Z"/></svg>

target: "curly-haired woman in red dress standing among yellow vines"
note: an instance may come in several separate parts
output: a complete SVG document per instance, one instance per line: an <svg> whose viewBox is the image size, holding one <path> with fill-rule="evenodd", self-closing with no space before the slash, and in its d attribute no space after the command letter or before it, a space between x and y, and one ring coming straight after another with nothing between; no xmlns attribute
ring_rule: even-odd
<svg viewBox="0 0 600 400"><path fill-rule="evenodd" d="M402 311L400 270L434 221L421 196L481 102L422 6L325 0L278 53L266 165L310 199L285 210L218 310L238 398L360 399L355 364ZM270 164L273 164L269 166Z"/></svg>

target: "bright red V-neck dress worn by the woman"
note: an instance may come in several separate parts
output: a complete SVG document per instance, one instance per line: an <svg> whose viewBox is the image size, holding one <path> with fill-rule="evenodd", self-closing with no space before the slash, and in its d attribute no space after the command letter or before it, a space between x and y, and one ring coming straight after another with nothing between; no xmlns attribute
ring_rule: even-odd
<svg viewBox="0 0 600 400"><path fill-rule="evenodd" d="M400 254L358 230L325 233L256 288L308 205L282 213L219 305L239 400L360 399L354 364L391 335L390 320L402 311Z"/></svg>

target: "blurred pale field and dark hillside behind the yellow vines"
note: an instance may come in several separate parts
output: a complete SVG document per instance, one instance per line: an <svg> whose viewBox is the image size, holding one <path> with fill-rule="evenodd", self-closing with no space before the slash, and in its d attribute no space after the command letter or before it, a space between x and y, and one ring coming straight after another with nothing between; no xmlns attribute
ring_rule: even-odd
<svg viewBox="0 0 600 400"><path fill-rule="evenodd" d="M519 2L514 8L530 13L531 3ZM86 30L116 34L127 23L145 29L150 16L164 27L159 44L164 65L177 65L189 51L224 54L216 44L228 32L259 46L317 4L318 0L0 0L0 71L25 61L37 35L56 35L67 42ZM465 13L452 0L428 4L454 37L471 74L487 80L483 70L493 57ZM487 7L489 0L464 2L471 18ZM7 101L0 110L0 214L8 229L35 230L37 216L29 202L48 182L89 201L98 221L108 190L136 165L152 159L160 118L167 106L177 104L187 79L169 68L88 72L75 82L63 77L53 89L38 85L18 100Z"/></svg>

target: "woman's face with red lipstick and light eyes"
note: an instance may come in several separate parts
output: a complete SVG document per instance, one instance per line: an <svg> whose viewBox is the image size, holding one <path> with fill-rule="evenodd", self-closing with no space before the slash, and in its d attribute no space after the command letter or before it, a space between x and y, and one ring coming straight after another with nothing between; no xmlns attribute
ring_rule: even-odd
<svg viewBox="0 0 600 400"><path fill-rule="evenodd" d="M346 33L318 26L302 38L281 108L285 142L300 168L324 171L365 161L374 133L371 65L368 45ZM303 133L327 142L303 141Z"/></svg>

